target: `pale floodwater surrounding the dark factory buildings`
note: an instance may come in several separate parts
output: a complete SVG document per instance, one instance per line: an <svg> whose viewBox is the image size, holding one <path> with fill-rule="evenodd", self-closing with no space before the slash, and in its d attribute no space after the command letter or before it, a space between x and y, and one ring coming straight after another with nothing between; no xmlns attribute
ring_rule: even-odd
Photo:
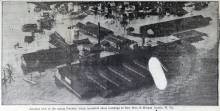
<svg viewBox="0 0 220 111"><path fill-rule="evenodd" d="M80 100L66 88L57 87L54 83L56 69L48 69L39 74L33 74L36 85L25 82L20 69L20 56L26 52L39 49L47 49L48 34L56 30L65 36L63 27L74 24L76 21L65 21L64 24L57 23L52 31L46 31L45 35L37 35L37 40L31 44L23 42L24 33L21 30L23 24L36 23L39 14L32 10L32 6L25 2L3 2L3 63L10 63L14 68L14 80L7 85L2 85L2 104L157 104L157 105L217 105L218 104L218 73L217 73L217 2L211 2L209 7L201 11L194 11L186 16L202 14L211 17L210 25L196 30L207 33L203 41L193 43L197 49L195 55L182 55L177 58L178 71L173 72L174 77L168 79L167 88L163 91L155 86L143 87L138 90L129 91L113 98L94 97ZM130 25L138 27L144 24L166 21L178 17L167 16L162 19L152 16L143 20L134 20ZM107 19L88 16L81 22L101 21L101 26L112 29L116 34L127 36L122 27L108 25ZM141 41L136 38L136 41ZM168 39L168 38L157 38ZM21 43L22 49L14 49L14 44ZM175 65L174 65L175 66Z"/></svg>

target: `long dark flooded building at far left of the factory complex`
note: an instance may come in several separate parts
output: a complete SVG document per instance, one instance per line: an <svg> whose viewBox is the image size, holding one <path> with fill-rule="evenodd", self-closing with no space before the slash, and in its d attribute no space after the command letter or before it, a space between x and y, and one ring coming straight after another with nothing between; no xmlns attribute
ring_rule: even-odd
<svg viewBox="0 0 220 111"><path fill-rule="evenodd" d="M70 45L69 48L71 54L67 49L63 48L51 48L47 50L40 50L37 52L26 53L22 55L21 68L24 74L31 72L44 72L48 68L54 68L61 64L73 62L78 59L79 51L75 45Z"/></svg>

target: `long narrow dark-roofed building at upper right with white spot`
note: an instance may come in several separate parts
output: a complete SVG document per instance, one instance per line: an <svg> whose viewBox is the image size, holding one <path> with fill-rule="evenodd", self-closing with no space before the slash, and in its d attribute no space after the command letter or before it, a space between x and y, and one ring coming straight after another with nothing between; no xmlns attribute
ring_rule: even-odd
<svg viewBox="0 0 220 111"><path fill-rule="evenodd" d="M140 33L144 37L163 37L180 31L207 26L211 21L210 17L202 15L159 22L140 27Z"/></svg>

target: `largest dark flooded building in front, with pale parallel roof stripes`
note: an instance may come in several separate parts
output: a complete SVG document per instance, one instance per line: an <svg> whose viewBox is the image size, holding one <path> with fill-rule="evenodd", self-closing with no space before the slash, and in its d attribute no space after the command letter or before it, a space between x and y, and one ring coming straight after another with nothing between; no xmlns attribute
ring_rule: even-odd
<svg viewBox="0 0 220 111"><path fill-rule="evenodd" d="M185 45L188 45L187 48ZM152 47L151 50L139 48L130 53L100 58L99 62L93 64L74 64L72 68L59 67L55 82L63 84L81 99L94 96L113 97L128 90L151 87L154 81L147 68L149 58L158 57L168 71L175 71L170 61L183 53L179 47L183 47L187 53L193 53L191 45L179 41ZM168 54L171 58L167 58ZM167 78L172 76L174 75L166 75Z"/></svg>

